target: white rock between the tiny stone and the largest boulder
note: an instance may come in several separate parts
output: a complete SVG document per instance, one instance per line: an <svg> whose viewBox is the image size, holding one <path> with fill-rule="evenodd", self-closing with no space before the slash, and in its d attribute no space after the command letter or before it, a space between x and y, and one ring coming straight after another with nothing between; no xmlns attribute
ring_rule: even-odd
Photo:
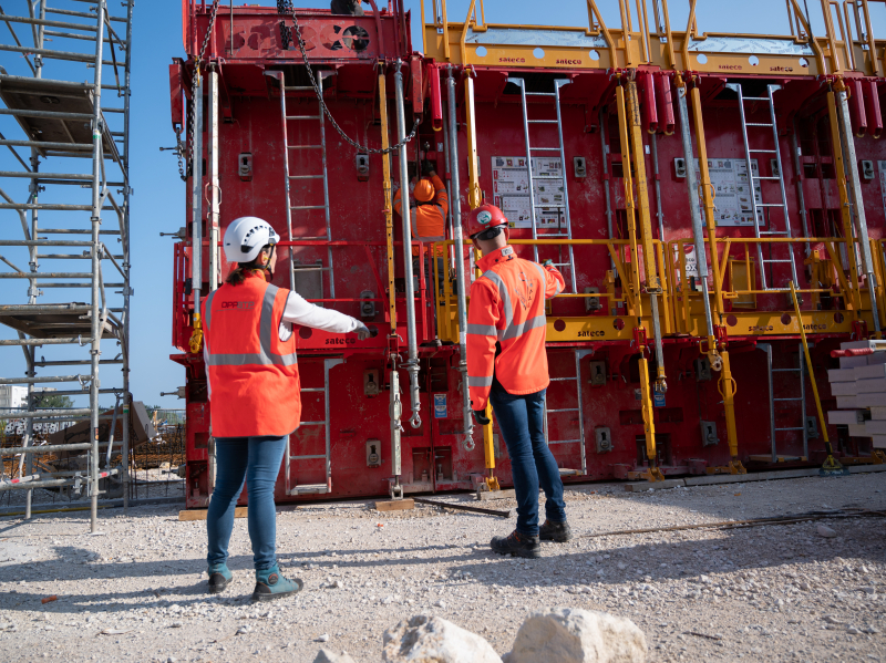
<svg viewBox="0 0 886 663"><path fill-rule="evenodd" d="M387 663L502 663L480 635L423 614L384 632L382 659Z"/></svg>

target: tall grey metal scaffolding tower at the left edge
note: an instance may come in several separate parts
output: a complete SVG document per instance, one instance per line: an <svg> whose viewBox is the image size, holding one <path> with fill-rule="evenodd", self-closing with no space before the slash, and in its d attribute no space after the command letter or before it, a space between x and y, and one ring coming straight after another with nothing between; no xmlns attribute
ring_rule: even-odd
<svg viewBox="0 0 886 663"><path fill-rule="evenodd" d="M20 269L13 261L0 257L12 270L0 271L0 279L27 280L28 302L0 303L0 323L18 335L18 339L0 340L0 346L10 353L20 348L27 370L24 377L2 377L0 384L25 385L28 397L27 410L16 415L27 422L22 446L0 449L1 456L18 458L18 468L11 475L0 466L0 491L25 490L24 517L30 518L35 488L66 486L76 494L85 487L91 500L90 528L96 531L97 500L102 493L100 480L117 476L123 484L124 508L128 506L125 467L130 453L130 298L133 294L130 284L130 198L133 189L128 158L134 0L121 2L122 15L112 14L104 0L54 2L64 4L64 8L50 7L48 0L20 4L27 7L27 13L0 15L6 23L0 51L20 53L31 74L12 75L0 68L0 115L14 117L24 135L23 139L8 139L0 134L0 148L6 147L14 157L10 160L18 162L16 170L0 169L0 198L3 199L0 210L9 210L3 215L18 214L23 239L18 238L14 226L0 225L0 247L27 250L29 269ZM45 48L48 41L52 41L54 48ZM64 45L55 45L60 42ZM50 60L51 79L43 75ZM79 82L82 72L74 63L83 63L93 70L91 83ZM119 103L103 106L104 91L116 92ZM44 110L47 105L52 110ZM24 158L17 148L29 148L30 157ZM41 168L41 160L50 159L53 167ZM25 203L17 203L6 191L7 186L14 188L20 178L30 180ZM90 190L89 205L74 200L74 188ZM51 201L40 201L42 191L48 191ZM47 215L48 220L39 218L41 211L51 213ZM103 211L114 213L112 218L116 217L119 228L102 229ZM112 237L120 241L117 253L107 245ZM68 252L41 252L47 247ZM61 260L87 260L90 269L41 269L41 261L53 266ZM105 281L103 266L114 272L112 282ZM89 289L90 301L54 301L61 298L51 298L52 303L40 301L45 297L44 289L58 292L60 288ZM11 288L7 288L4 293L4 300L13 294ZM113 303L120 302L117 305L112 305L112 296L115 296ZM101 359L102 340L117 342L120 352L116 356ZM37 349L52 345L64 346L62 356L54 361L40 356L38 361ZM84 349L87 349L85 356ZM120 366L116 386L101 386L102 364ZM50 366L89 366L89 371L38 376L38 369ZM87 396L89 405L37 406L35 385L63 383L79 383L80 389L59 389L52 392L54 395ZM99 398L104 394L112 394L115 405L113 414L101 416ZM34 446L34 423L75 417L89 418L89 442ZM103 441L99 439L100 419L111 422ZM121 439L114 438L117 422L122 426ZM111 466L114 449L122 452L123 458L122 465L116 467ZM86 452L86 468L34 474L37 455L69 452Z"/></svg>

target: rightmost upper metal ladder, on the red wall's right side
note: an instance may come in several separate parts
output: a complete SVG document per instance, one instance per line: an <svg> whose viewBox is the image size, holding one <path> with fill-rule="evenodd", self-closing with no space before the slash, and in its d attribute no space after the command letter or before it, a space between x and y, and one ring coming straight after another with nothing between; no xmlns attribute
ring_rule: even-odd
<svg viewBox="0 0 886 663"><path fill-rule="evenodd" d="M784 168L782 167L782 155L781 149L779 147L779 128L775 123L775 102L772 99L772 95L775 93L776 90L781 90L781 85L766 85L766 96L744 96L741 90L741 83L729 83L727 87L735 92L739 95L739 111L741 114L741 135L744 139L744 159L748 165L748 183L751 187L751 206L754 213L754 235L758 239L764 237L791 237L791 219L787 216L787 195L784 191ZM744 102L765 102L769 105L769 115L771 122L748 122L745 114L744 114ZM762 128L771 128L772 130L772 141L773 141L773 149L751 149L750 144L748 142L748 127L762 127ZM762 177L759 174L754 175L751 164L751 155L752 154L772 154L775 157L775 164L777 166L777 173L775 175L770 175L767 177ZM779 191L781 195L781 200L779 203L758 203L756 201L756 194L754 185L758 182L763 180L772 180L779 183ZM762 187L761 187L761 200L762 200ZM772 222L772 217L770 216L769 219L769 230L761 230L760 229L760 216L761 213L769 207L781 207L782 214L784 214L784 229L777 230L774 228ZM776 292L786 292L790 291L790 287L786 288L770 288L770 284L766 282L766 265L779 265L779 263L790 263L791 265L791 280L794 283L799 283L796 278L796 263L794 262L794 245L787 244L787 258L763 258L763 245L756 245L756 257L760 261L760 283L763 286L763 290L772 290Z"/></svg>

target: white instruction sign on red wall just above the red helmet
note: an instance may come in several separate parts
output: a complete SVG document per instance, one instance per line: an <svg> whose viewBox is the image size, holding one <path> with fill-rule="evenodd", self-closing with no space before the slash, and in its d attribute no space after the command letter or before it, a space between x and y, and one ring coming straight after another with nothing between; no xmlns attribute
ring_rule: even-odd
<svg viewBox="0 0 886 663"><path fill-rule="evenodd" d="M565 227L563 160L559 157L533 157L533 196L536 228ZM512 228L532 228L529 168L525 156L492 157L494 205L505 213Z"/></svg>

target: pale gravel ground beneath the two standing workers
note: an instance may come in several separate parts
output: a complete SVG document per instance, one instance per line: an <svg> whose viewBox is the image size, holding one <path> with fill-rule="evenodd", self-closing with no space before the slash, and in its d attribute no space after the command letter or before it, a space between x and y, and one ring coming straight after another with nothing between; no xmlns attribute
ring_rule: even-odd
<svg viewBox="0 0 886 663"><path fill-rule="evenodd" d="M466 501L465 497L449 497ZM577 537L539 560L493 555L509 521L435 507L379 514L368 503L281 509L296 598L251 604L246 520L235 581L205 593L205 522L169 506L124 516L0 520L0 660L311 662L321 646L380 660L382 633L443 617L507 652L530 610L587 608L633 620L650 661L886 661L886 539L879 518L587 538L628 528L886 507L886 473L655 493L567 490ZM484 507L507 508L513 501ZM41 599L56 594L45 604Z"/></svg>

